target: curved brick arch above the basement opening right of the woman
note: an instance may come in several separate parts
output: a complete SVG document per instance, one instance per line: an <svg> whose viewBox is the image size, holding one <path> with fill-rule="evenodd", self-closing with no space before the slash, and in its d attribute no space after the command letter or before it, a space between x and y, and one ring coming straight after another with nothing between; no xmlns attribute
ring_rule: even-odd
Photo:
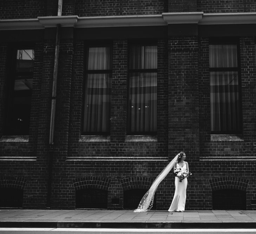
<svg viewBox="0 0 256 234"><path fill-rule="evenodd" d="M209 183L212 191L221 189L237 189L241 191L246 191L249 180L236 177L218 177L209 180Z"/></svg>

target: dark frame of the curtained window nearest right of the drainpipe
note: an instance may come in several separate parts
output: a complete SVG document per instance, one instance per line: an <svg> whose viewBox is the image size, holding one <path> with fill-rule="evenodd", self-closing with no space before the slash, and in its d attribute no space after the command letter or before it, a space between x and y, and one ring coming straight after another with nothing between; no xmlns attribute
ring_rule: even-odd
<svg viewBox="0 0 256 234"><path fill-rule="evenodd" d="M106 70L88 70L87 69L87 62L88 62L88 52L89 48L91 47L109 47L110 48L110 64L111 64L111 69L106 69ZM111 79L111 87L112 87L112 76L113 76L113 49L112 49L112 41L87 41L85 42L84 45L84 78L83 78L83 101L82 101L82 122L81 122L81 135L85 136L90 136L90 135L110 135L111 131L111 120L109 120L109 131L108 132L84 132L84 118L85 118L85 88L86 88L86 79L88 74L109 74L110 79ZM110 87L110 91L111 91ZM110 93L110 110L111 114L111 93ZM111 116L110 116L111 118Z"/></svg>

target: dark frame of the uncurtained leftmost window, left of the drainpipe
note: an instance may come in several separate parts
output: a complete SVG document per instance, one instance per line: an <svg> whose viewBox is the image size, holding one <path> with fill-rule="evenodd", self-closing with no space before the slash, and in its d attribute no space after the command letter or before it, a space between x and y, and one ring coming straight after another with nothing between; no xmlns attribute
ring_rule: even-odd
<svg viewBox="0 0 256 234"><path fill-rule="evenodd" d="M29 135L30 132L30 124L31 124L31 107L32 107L32 97L33 97L33 79L34 79L34 62L35 62L35 57L34 57L34 62L33 62L33 70L31 72L18 72L17 71L17 51L18 50L33 50L35 52L35 44L34 42L31 42L30 44L25 43L25 44L18 44L18 45L8 45L8 54L7 54L7 66L6 66L6 101L5 101L5 115L4 115L4 128L3 128L3 133L4 135L11 136L11 135L17 135L17 136L22 136L22 135ZM15 91L14 91L14 85L15 85L15 80L18 77L29 77L32 79L32 90L30 95L24 95L23 93L26 93L26 91L16 91L18 93L21 93L19 96L30 96L31 97L31 103L30 103L30 111L29 111L29 119L28 119L28 128L27 131L21 134L17 134L18 132L14 131L14 134L10 132L9 126L9 116L12 114L12 106L13 106L13 100L15 97ZM27 91L29 92L29 91Z"/></svg>

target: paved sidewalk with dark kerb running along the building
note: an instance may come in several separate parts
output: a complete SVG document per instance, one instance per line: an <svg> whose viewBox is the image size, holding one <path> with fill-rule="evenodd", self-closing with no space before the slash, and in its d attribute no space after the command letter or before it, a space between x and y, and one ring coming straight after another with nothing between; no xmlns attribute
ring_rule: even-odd
<svg viewBox="0 0 256 234"><path fill-rule="evenodd" d="M0 227L256 228L256 210L0 210Z"/></svg>

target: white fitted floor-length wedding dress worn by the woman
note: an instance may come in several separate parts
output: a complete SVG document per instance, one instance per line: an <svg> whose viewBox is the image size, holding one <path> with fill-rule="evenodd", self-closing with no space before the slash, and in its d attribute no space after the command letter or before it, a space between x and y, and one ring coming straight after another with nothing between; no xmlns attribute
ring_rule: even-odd
<svg viewBox="0 0 256 234"><path fill-rule="evenodd" d="M180 167L178 163L177 163L177 167ZM184 167L186 167L186 164L180 168L184 168ZM179 182L179 178L175 177L175 193L172 199L171 206L168 210L169 212L174 212L174 211L181 212L185 210L187 185L188 185L187 178L183 179L182 182Z"/></svg>

